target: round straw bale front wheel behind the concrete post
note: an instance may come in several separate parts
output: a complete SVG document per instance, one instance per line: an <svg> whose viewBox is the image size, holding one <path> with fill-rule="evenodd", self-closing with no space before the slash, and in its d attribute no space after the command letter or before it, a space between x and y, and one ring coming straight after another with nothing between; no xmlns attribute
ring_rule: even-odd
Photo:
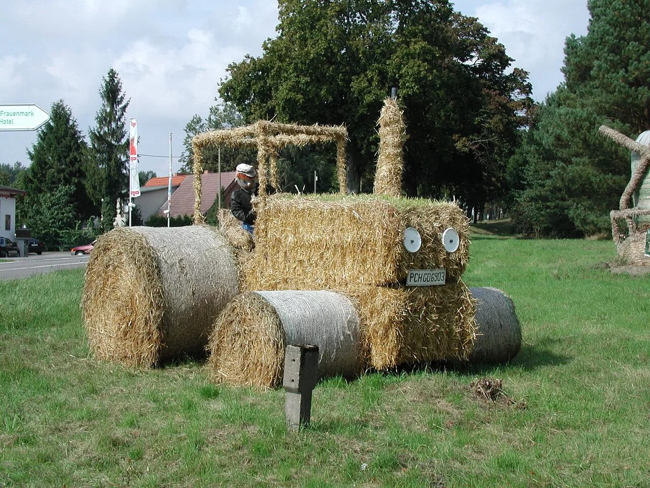
<svg viewBox="0 0 650 488"><path fill-rule="evenodd" d="M334 291L250 291L214 322L208 349L216 383L273 388L282 379L285 347L318 346L318 375L352 377L361 368L359 318Z"/></svg>

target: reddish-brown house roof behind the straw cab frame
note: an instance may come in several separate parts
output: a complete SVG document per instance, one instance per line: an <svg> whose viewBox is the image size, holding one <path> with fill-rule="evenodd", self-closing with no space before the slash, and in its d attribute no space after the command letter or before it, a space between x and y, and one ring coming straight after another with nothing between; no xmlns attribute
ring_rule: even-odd
<svg viewBox="0 0 650 488"><path fill-rule="evenodd" d="M221 185L226 189L230 183L235 180L236 171L227 171L221 173ZM217 190L219 187L219 174L218 173L204 173L201 175L201 213L205 213L213 206L216 200ZM187 178L179 185L179 187L172 193L172 217L179 215L193 215L194 214L194 175L187 175ZM167 204L161 206L158 213L166 210Z"/></svg>

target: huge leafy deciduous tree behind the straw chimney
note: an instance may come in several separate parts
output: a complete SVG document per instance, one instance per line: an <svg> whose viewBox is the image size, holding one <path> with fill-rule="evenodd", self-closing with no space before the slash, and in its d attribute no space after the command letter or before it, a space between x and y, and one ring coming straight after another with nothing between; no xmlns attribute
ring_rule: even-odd
<svg viewBox="0 0 650 488"><path fill-rule="evenodd" d="M280 0L276 30L220 87L248 122L345 124L348 184L366 189L383 98L398 87L408 195L471 202L500 192L530 85L526 72L507 72L512 60L475 18L447 0Z"/></svg>

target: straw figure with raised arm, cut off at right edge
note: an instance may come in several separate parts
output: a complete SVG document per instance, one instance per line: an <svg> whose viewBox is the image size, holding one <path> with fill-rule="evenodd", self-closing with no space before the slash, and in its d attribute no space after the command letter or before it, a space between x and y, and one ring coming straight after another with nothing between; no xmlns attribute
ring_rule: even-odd
<svg viewBox="0 0 650 488"><path fill-rule="evenodd" d="M610 212L617 254L628 264L650 265L650 131L640 134L636 141L607 126L599 131L632 152L632 176L621 195L619 210ZM621 231L622 221L627 232Z"/></svg>

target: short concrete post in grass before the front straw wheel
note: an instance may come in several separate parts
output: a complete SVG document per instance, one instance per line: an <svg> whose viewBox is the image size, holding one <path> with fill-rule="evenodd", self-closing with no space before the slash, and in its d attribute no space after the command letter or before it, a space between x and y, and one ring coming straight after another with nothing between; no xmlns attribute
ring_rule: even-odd
<svg viewBox="0 0 650 488"><path fill-rule="evenodd" d="M318 346L296 344L285 350L283 386L287 392L285 415L289 430L311 419L311 391L318 380Z"/></svg>

